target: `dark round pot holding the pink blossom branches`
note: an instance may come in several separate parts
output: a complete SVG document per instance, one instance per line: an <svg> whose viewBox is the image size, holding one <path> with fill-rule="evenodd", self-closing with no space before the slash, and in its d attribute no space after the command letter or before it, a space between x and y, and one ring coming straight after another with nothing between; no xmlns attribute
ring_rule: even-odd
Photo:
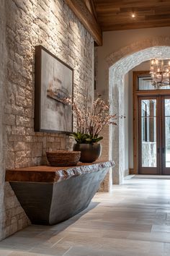
<svg viewBox="0 0 170 256"><path fill-rule="evenodd" d="M92 163L99 158L102 152L102 145L99 143L94 144L79 144L73 145L73 151L81 151L80 161L82 163Z"/></svg>

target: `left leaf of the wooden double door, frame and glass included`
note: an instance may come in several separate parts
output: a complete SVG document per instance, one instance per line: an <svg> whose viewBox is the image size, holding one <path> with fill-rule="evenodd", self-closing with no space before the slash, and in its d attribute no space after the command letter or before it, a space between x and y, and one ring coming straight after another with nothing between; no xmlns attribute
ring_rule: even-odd
<svg viewBox="0 0 170 256"><path fill-rule="evenodd" d="M139 98L139 173L158 174L157 98Z"/></svg>

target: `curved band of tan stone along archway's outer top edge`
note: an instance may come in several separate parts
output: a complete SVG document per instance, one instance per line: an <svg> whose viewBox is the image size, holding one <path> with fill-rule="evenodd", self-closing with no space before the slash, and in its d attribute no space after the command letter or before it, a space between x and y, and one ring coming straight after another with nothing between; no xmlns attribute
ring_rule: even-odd
<svg viewBox="0 0 170 256"><path fill-rule="evenodd" d="M108 67L112 67L117 61L125 58L128 55L134 54L135 52L142 51L146 48L156 47L156 46L170 46L170 37L157 37L149 38L142 41L137 41L131 43L129 46L120 48L120 50L113 52L106 57L106 62Z"/></svg>

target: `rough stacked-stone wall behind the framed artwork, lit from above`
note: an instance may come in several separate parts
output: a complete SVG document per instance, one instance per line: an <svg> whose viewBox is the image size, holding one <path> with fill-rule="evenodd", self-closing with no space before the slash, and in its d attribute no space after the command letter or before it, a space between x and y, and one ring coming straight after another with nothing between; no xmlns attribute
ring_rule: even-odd
<svg viewBox="0 0 170 256"><path fill-rule="evenodd" d="M45 164L46 150L71 148L66 135L34 132L35 46L41 44L74 69L73 90L81 103L87 85L93 95L94 42L63 0L1 0L0 26L3 238L29 223L10 185L4 186L5 168Z"/></svg>

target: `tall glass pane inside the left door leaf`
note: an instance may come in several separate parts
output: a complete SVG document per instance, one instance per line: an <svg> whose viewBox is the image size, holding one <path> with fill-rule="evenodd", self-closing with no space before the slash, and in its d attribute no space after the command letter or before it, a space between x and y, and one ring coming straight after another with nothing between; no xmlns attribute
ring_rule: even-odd
<svg viewBox="0 0 170 256"><path fill-rule="evenodd" d="M142 166L156 167L156 100L141 101Z"/></svg>

